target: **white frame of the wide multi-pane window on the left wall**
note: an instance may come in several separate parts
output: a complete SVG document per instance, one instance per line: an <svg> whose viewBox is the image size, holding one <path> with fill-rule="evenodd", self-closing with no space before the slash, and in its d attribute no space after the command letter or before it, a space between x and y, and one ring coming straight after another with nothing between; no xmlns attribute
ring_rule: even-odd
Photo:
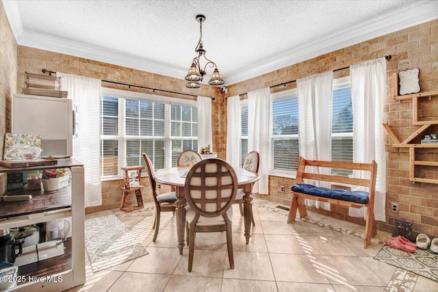
<svg viewBox="0 0 438 292"><path fill-rule="evenodd" d="M181 98L174 98L174 97L168 97L168 96L158 96L154 94L145 94L141 92L131 92L127 90L118 90L114 88L101 88L101 100L102 96L108 96L108 97L114 97L114 98L122 98L119 100L118 103L118 135L101 135L100 140L118 140L118 173L117 175L113 176L101 176L102 181L110 181L114 179L120 179L123 178L123 172L120 170L120 168L123 168L126 166L126 157L127 157L127 140L141 140L142 136L137 135L126 135L125 133L125 122L126 122L126 116L125 116L125 100L126 99L134 99L139 101L149 101L149 102L155 102L155 103L164 103L165 104L165 130L164 130L164 136L153 136L149 137L148 139L156 139L156 140L163 140L164 139L164 148L166 150L164 154L164 165L166 168L170 168L172 165L172 140L184 140L189 139L190 140L197 140L198 137L171 137L170 136L170 105L182 105L182 106L188 106L188 107L197 107L196 101L190 101L185 100ZM102 101L101 101L102 103ZM102 122L102 120L101 120ZM195 139L196 138L196 139ZM101 155L101 151L99 151L99 155ZM102 159L101 159L102 160ZM101 169L102 169L102 163L101 161Z"/></svg>

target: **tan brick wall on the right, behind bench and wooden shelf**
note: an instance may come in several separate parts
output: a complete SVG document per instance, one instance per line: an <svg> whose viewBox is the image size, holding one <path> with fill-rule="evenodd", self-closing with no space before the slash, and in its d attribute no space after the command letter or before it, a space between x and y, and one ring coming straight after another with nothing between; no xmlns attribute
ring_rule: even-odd
<svg viewBox="0 0 438 292"><path fill-rule="evenodd" d="M394 101L392 89L392 73L400 72L410 68L420 68L420 88L424 90L438 90L438 20L415 25L402 29L385 36L373 38L366 42L339 49L325 55L320 55L305 62L281 68L274 72L248 79L240 83L228 86L228 93L225 97L243 94L246 92L266 88L268 86L300 79L310 75L336 70L353 64L392 55L387 63L387 97L385 98L384 122L387 122L400 140L409 137L419 126L412 125L412 102ZM335 72L335 78L349 75L349 70ZM271 89L271 92L278 92L295 88L296 83L289 83L287 86L279 86ZM420 118L426 116L429 120L438 119L438 96L431 101L422 98L420 104ZM227 105L222 109L222 114L227 115ZM438 127L433 127L428 132L438 132ZM224 126L223 135L226 137L227 128ZM417 141L419 142L419 141ZM386 137L387 144L394 144L389 136ZM414 229L417 232L438 236L438 185L430 183L415 183L409 181L409 150L407 148L392 148L386 146L387 152L387 222L378 222L381 230L392 231L394 220L397 214L391 213L389 204L397 202L400 204L399 217L414 220ZM426 149L417 151L417 156L428 161L438 161L438 150ZM417 176L425 178L438 178L437 168L417 168ZM281 192L280 185L286 190L294 185L294 179L281 176L270 176L269 196L265 196L275 202L289 204L290 191ZM345 207L333 206L331 211L318 210L333 217L350 222L364 224L363 220L348 216L348 209Z"/></svg>

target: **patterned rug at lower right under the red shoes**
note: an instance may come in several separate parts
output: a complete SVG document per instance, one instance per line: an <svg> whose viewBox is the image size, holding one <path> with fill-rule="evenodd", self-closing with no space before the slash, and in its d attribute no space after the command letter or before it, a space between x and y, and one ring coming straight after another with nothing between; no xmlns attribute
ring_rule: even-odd
<svg viewBox="0 0 438 292"><path fill-rule="evenodd" d="M374 258L438 282L438 254L430 250L417 248L415 252L405 252L384 245Z"/></svg>

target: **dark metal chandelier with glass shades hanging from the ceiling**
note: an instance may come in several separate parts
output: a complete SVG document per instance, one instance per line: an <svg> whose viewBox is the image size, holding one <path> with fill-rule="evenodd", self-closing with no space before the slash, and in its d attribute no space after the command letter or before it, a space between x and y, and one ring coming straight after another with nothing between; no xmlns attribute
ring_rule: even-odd
<svg viewBox="0 0 438 292"><path fill-rule="evenodd" d="M203 77L205 75L205 68L207 68L207 65L209 65L210 68L214 68L213 75L211 75L211 79L210 81L208 81L209 85L222 85L225 83L225 81L222 79L222 76L220 76L218 67L213 61L205 57L205 53L207 52L203 47L203 21L205 21L205 16L203 16L202 14L196 15L196 21L199 21L200 31L201 31L198 40L198 45L196 45L196 48L194 50L196 53L198 53L198 55L194 57L192 66L190 66L189 72L185 76L185 80L188 81L188 83L185 84L185 87L200 88L201 84L199 84L199 81L203 81ZM201 68L201 64L199 63L199 59L201 57L204 57L204 59L207 60L207 64L205 64L203 69Z"/></svg>

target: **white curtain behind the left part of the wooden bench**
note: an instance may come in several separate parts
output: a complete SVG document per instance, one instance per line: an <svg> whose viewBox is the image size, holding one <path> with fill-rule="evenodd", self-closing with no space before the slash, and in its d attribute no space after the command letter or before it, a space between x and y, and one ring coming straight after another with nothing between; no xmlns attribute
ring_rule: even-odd
<svg viewBox="0 0 438 292"><path fill-rule="evenodd" d="M296 81L298 88L298 136L300 156L305 159L331 160L331 114L333 71L309 76ZM328 168L313 168L314 173L330 174ZM319 187L329 183L308 182ZM305 200L307 206L330 210L330 204Z"/></svg>

